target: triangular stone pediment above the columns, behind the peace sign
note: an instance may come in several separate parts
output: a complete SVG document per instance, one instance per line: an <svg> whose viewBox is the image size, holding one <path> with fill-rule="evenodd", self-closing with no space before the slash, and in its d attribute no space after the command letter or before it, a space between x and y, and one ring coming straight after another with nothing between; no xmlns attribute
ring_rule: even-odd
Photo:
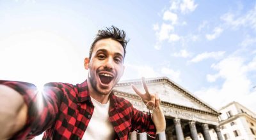
<svg viewBox="0 0 256 140"><path fill-rule="evenodd" d="M161 101L176 104L177 106L184 106L186 108L218 113L214 108L166 77L150 78L146 79L146 82L149 92L157 93ZM132 90L131 85L135 85L141 92L144 92L141 80L139 79L120 81L120 83L116 85L115 90L129 94L136 94L134 90Z"/></svg>

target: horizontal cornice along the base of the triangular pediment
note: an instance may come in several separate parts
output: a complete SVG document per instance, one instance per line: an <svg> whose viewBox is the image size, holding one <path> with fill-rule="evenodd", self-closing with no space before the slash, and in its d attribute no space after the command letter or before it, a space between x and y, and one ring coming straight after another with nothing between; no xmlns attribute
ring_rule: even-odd
<svg viewBox="0 0 256 140"><path fill-rule="evenodd" d="M121 92L121 91L118 91L118 90L113 90L113 93L115 95L120 95L121 97L128 97L130 99L136 99L136 100L141 101L140 97L138 95L135 95L135 94L129 94L127 92ZM212 116L219 116L220 115L220 113L212 113L212 112L208 112L208 111L202 111L200 109L189 108L189 107L186 107L186 106L182 106L182 105L179 105L179 104L173 104L173 103L165 102L165 101L161 101L161 105L166 106L166 107L171 107L171 108L183 109L183 110L186 110L186 111L192 111L192 112L195 112L195 113L200 113L200 114L205 114L205 115L212 115Z"/></svg>

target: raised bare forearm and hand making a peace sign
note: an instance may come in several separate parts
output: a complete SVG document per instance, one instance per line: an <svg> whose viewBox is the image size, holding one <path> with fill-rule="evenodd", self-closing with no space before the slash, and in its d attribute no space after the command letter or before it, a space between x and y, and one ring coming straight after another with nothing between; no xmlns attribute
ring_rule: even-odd
<svg viewBox="0 0 256 140"><path fill-rule="evenodd" d="M156 125L156 132L160 133L165 130L166 122L164 118L163 110L160 106L160 99L157 94L150 94L148 92L148 87L145 82L145 78L141 78L145 94L142 94L134 85L132 88L136 94L138 94L142 101L146 104L147 108L152 112L152 121Z"/></svg>

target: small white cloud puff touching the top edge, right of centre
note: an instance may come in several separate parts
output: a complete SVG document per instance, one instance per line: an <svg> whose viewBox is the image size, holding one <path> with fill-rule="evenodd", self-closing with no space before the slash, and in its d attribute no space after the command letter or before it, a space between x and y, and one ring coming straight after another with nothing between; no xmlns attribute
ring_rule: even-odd
<svg viewBox="0 0 256 140"><path fill-rule="evenodd" d="M184 0L180 4L181 13L189 13L191 11L195 11L198 4L195 4L193 0Z"/></svg>

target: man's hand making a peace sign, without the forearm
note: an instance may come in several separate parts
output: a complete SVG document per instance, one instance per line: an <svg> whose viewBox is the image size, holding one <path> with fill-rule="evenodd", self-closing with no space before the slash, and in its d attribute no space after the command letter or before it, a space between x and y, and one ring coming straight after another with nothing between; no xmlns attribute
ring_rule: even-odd
<svg viewBox="0 0 256 140"><path fill-rule="evenodd" d="M160 99L159 99L158 95L157 94L150 94L148 92L148 87L146 85L145 78L142 77L141 81L142 81L142 85L143 85L143 88L144 88L146 93L142 94L138 90L138 88L136 88L134 85L132 85L132 88L133 88L134 92L136 92L136 94L138 94L140 96L140 98L142 99L144 104L146 104L148 109L154 110L155 108L159 108Z"/></svg>

